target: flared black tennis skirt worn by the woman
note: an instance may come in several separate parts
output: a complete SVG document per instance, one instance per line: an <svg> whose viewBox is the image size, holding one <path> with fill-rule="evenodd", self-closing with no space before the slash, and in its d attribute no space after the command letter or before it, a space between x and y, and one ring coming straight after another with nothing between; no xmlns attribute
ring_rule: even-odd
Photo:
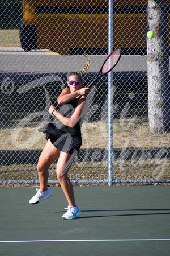
<svg viewBox="0 0 170 256"><path fill-rule="evenodd" d="M45 125L38 131L45 133L45 139L50 139L54 147L59 151L76 155L79 153L80 146L82 145L82 137L80 135L66 133L57 129L53 123L48 123L48 125Z"/></svg>

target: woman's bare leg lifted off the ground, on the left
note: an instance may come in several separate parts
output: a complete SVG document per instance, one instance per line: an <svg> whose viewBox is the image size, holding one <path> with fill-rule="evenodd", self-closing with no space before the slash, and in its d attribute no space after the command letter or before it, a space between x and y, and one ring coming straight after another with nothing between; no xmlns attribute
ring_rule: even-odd
<svg viewBox="0 0 170 256"><path fill-rule="evenodd" d="M60 151L53 146L53 144L48 140L44 150L42 150L39 162L37 164L37 170L39 171L39 180L40 180L40 191L45 192L47 189L48 182L48 168L56 160Z"/></svg>

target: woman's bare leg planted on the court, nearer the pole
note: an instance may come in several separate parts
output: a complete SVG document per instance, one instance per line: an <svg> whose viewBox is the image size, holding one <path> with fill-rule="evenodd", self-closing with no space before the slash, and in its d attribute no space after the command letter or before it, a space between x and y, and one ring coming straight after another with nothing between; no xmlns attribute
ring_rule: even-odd
<svg viewBox="0 0 170 256"><path fill-rule="evenodd" d="M59 159L57 162L57 178L59 184L62 187L63 192L65 193L66 199L68 201L68 205L76 206L75 197L73 191L73 185L67 176L69 168L73 163L75 158L75 154L67 154L65 152L60 152Z"/></svg>

